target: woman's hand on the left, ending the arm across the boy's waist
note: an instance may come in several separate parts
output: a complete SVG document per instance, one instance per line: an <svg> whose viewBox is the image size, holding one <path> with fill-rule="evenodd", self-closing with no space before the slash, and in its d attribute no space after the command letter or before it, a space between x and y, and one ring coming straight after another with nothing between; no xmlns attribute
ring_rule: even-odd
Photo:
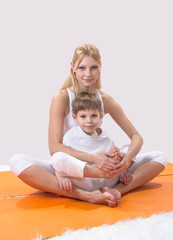
<svg viewBox="0 0 173 240"><path fill-rule="evenodd" d="M104 172L111 172L115 169L116 164L119 163L118 160L115 160L114 154L110 152L100 152L94 153L94 163L95 165Z"/></svg>

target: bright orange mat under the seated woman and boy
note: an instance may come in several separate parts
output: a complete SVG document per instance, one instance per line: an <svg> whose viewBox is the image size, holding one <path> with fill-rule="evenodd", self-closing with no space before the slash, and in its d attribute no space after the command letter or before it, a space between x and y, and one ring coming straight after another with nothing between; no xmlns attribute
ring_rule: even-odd
<svg viewBox="0 0 173 240"><path fill-rule="evenodd" d="M0 173L0 192L0 239L47 238L61 235L68 228L91 228L172 211L173 164L151 182L123 196L115 208L38 192L10 172Z"/></svg>

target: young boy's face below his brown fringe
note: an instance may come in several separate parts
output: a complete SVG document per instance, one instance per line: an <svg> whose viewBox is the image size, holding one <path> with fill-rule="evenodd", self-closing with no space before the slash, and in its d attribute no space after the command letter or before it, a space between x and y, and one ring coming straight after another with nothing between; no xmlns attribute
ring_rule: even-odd
<svg viewBox="0 0 173 240"><path fill-rule="evenodd" d="M94 109L81 110L77 115L73 114L73 118L85 133L92 135L99 126L102 113Z"/></svg>

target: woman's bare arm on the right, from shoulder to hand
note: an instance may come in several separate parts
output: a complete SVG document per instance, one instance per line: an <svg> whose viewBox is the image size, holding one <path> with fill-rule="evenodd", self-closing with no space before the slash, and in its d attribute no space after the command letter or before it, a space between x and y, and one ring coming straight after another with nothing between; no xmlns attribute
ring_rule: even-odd
<svg viewBox="0 0 173 240"><path fill-rule="evenodd" d="M102 92L102 98L105 107L105 113L109 113L113 120L120 126L120 128L127 134L131 139L131 144L128 152L124 155L123 160L116 165L115 168L119 168L116 173L121 172L129 168L132 164L132 158L134 158L140 151L143 139L132 125L129 119L126 117L121 106L109 95Z"/></svg>

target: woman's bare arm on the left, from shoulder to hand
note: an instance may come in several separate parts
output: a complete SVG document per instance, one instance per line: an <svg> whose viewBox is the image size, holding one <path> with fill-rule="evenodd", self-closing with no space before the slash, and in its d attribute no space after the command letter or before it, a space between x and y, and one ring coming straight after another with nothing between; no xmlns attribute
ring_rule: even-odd
<svg viewBox="0 0 173 240"><path fill-rule="evenodd" d="M64 118L69 112L69 97L67 90L61 90L54 95L50 107L49 119L49 149L50 154L65 152L82 161L95 163L103 171L112 169L114 160L106 152L88 153L74 150L62 144Z"/></svg>

